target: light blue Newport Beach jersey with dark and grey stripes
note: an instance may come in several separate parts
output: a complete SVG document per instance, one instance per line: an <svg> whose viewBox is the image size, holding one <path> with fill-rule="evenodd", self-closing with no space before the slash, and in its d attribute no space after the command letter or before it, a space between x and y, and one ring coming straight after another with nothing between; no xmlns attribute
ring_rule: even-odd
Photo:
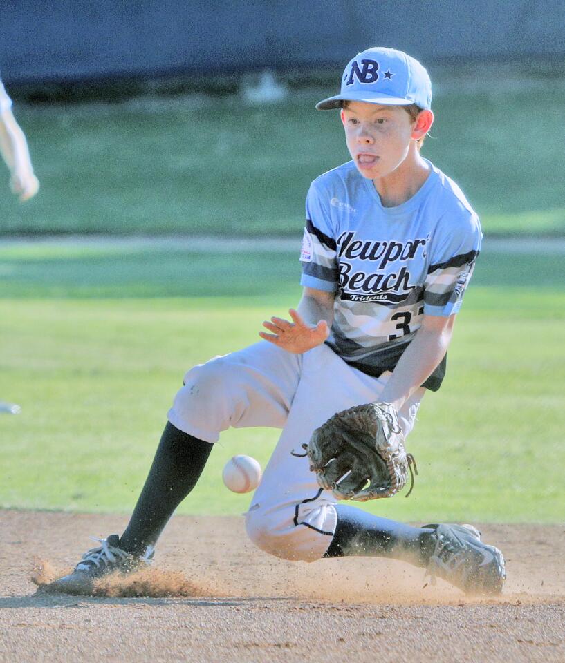
<svg viewBox="0 0 565 663"><path fill-rule="evenodd" d="M303 286L335 292L326 343L369 375L392 371L422 318L461 307L481 248L479 218L433 164L423 186L384 207L348 162L312 182L302 241ZM445 357L424 385L437 390Z"/></svg>

